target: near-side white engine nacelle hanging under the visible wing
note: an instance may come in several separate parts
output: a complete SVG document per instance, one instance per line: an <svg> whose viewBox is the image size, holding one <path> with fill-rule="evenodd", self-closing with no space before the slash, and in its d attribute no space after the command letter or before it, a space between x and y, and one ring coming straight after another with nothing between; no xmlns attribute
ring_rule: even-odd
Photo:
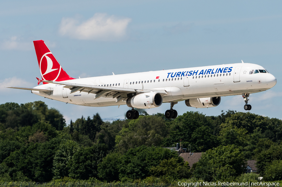
<svg viewBox="0 0 282 187"><path fill-rule="evenodd" d="M128 107L133 108L156 108L163 103L163 96L157 92L146 92L127 99Z"/></svg>

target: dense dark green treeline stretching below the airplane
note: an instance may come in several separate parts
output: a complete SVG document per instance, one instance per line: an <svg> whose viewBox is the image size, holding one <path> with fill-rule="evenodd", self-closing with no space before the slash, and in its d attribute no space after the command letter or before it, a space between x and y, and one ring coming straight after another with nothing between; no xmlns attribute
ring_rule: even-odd
<svg viewBox="0 0 282 187"><path fill-rule="evenodd" d="M137 120L103 122L99 114L66 125L42 101L0 105L0 181L282 180L282 121L250 112L186 112L168 120L140 111ZM192 167L175 151L205 152ZM258 174L244 174L248 159Z"/></svg>

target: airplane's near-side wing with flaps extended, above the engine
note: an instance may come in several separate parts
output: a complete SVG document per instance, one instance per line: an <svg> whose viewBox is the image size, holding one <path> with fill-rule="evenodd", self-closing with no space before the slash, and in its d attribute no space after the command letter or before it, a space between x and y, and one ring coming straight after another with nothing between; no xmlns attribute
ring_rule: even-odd
<svg viewBox="0 0 282 187"><path fill-rule="evenodd" d="M43 81L47 83L53 84L60 84L65 85L64 88L69 88L71 91L70 93L74 92L87 92L88 94L96 94L94 99L97 99L102 96L112 96L112 98L118 98L118 101L123 100L124 98L128 98L134 96L139 93L145 92L159 92L160 94L167 95L165 90L135 90L131 88L118 88L118 87L105 87L105 86L93 86L93 85L84 85L84 84L76 84L70 82L63 82L63 81Z"/></svg>

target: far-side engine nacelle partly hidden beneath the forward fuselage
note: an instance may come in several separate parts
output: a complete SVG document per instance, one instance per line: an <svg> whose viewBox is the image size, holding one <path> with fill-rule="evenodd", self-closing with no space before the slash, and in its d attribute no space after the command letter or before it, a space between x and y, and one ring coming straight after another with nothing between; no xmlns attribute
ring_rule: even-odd
<svg viewBox="0 0 282 187"><path fill-rule="evenodd" d="M192 106L195 108L208 108L219 105L221 101L220 97L205 97L205 98L194 98L185 100L186 106Z"/></svg>

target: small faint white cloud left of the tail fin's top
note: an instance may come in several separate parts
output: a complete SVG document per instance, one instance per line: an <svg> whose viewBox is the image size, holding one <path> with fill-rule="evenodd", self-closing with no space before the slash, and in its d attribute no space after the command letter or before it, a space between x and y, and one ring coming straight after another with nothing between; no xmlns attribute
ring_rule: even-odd
<svg viewBox="0 0 282 187"><path fill-rule="evenodd" d="M0 43L0 49L3 50L32 50L33 43L32 42L22 42L21 39L18 39L17 36L13 36L8 40L3 41Z"/></svg>

